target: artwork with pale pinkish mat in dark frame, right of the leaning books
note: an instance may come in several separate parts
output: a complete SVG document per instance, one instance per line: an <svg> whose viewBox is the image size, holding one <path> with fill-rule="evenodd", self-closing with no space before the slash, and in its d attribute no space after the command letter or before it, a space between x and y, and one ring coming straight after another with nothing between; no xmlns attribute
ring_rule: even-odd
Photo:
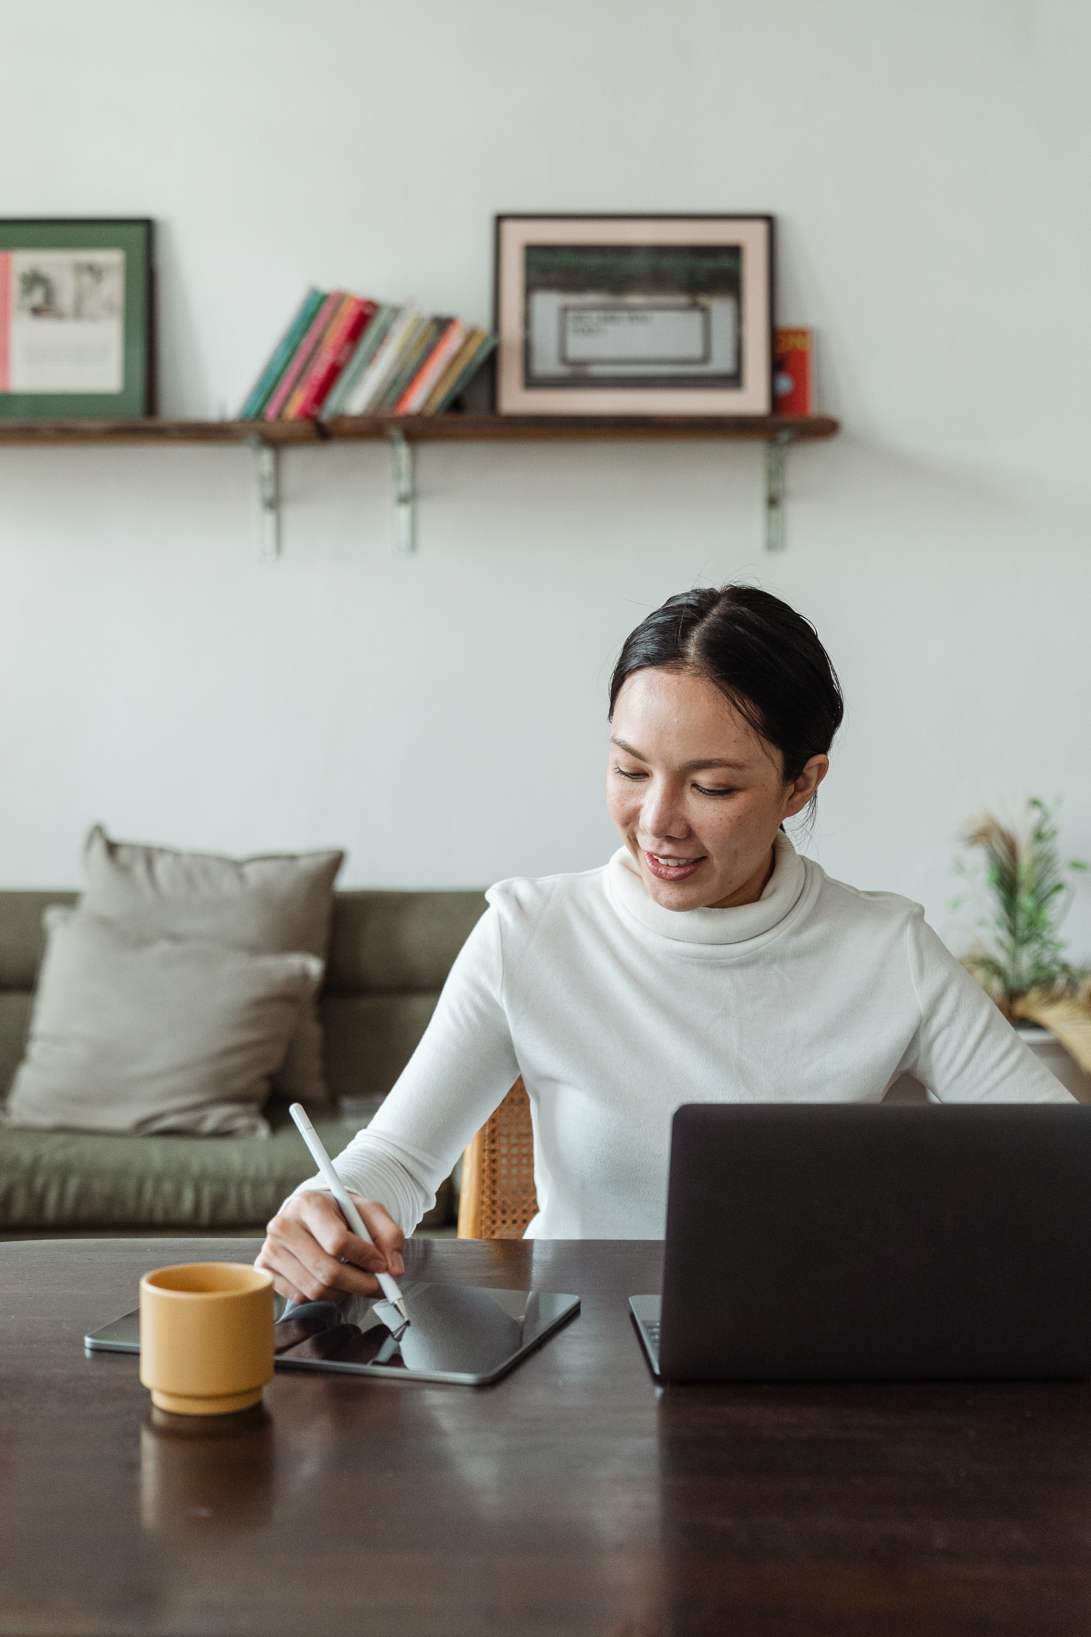
<svg viewBox="0 0 1091 1637"><path fill-rule="evenodd" d="M770 414L772 216L497 216L501 414Z"/></svg>

